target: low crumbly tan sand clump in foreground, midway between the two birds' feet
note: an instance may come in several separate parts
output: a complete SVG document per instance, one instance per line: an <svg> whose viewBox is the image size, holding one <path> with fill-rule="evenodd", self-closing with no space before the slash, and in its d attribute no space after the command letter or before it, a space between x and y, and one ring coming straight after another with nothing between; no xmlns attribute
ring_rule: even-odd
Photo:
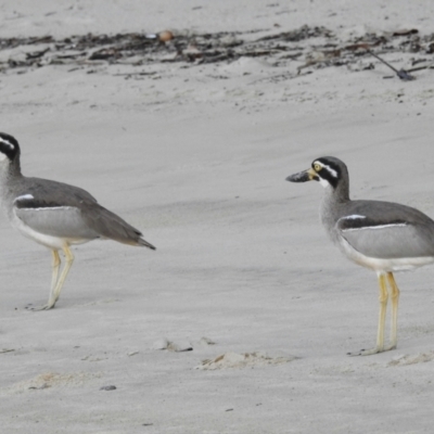
<svg viewBox="0 0 434 434"><path fill-rule="evenodd" d="M233 353L228 352L220 354L214 359L202 360L195 369L214 371L217 369L233 369L233 368L255 368L269 365L288 363L297 359L295 356L278 356L270 357L264 352L253 353Z"/></svg>

